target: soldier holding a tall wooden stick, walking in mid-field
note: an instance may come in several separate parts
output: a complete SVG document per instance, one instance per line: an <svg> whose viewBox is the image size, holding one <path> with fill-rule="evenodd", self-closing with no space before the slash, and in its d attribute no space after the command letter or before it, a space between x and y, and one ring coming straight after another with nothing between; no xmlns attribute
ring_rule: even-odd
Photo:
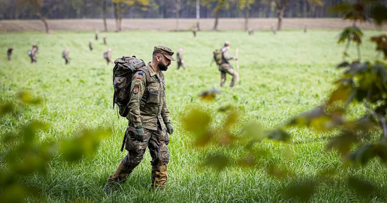
<svg viewBox="0 0 387 203"><path fill-rule="evenodd" d="M221 72L221 82L220 86L223 87L224 82L226 82L226 74L230 74L233 76L231 80L230 87L233 87L235 82L238 81L238 73L235 72L234 68L230 65L230 60L238 60L237 57L230 56L228 50L230 48L230 43L226 41L224 46L220 49L222 52L222 63L219 65L219 71Z"/></svg>

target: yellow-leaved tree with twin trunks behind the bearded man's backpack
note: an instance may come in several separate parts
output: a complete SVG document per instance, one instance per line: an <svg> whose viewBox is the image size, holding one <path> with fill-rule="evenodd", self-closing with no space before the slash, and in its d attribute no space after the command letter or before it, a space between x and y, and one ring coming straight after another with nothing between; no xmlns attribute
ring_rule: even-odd
<svg viewBox="0 0 387 203"><path fill-rule="evenodd" d="M116 20L116 31L121 32L121 22L123 14L125 14L134 5L140 5L142 9L149 6L149 0L113 0L114 17Z"/></svg>

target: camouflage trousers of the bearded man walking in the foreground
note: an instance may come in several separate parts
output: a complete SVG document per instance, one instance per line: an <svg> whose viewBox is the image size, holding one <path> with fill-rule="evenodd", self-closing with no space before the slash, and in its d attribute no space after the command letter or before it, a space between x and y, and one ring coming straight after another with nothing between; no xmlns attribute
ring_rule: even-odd
<svg viewBox="0 0 387 203"><path fill-rule="evenodd" d="M108 182L124 183L127 175L140 164L148 147L152 157L152 186L165 188L169 162L168 133L165 129L161 130L160 127L158 130L144 128L144 133L144 142L139 142L135 139L135 128L128 126L128 137L125 143L128 154L122 159L115 173L109 176Z"/></svg>

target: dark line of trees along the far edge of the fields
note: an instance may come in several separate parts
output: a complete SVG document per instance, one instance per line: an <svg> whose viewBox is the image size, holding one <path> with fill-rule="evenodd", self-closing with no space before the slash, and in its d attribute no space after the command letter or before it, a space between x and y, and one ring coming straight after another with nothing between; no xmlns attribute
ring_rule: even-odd
<svg viewBox="0 0 387 203"><path fill-rule="evenodd" d="M321 18L343 17L330 8L352 0L0 0L0 19L106 18L116 20L116 31L121 31L123 18L215 18L214 30L221 17L278 18L281 30L283 17ZM387 5L387 0L382 1ZM366 7L369 11L372 6ZM178 25L178 22L177 22ZM178 27L176 27L178 29Z"/></svg>

